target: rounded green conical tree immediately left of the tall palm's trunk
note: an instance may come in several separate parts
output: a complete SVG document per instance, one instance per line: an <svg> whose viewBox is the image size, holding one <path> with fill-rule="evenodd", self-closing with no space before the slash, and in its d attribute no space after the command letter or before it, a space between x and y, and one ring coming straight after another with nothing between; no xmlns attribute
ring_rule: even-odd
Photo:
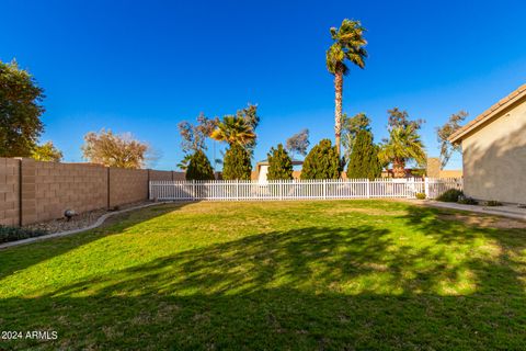
<svg viewBox="0 0 526 351"><path fill-rule="evenodd" d="M307 155L301 169L301 179L339 179L342 162L331 140L322 139Z"/></svg>

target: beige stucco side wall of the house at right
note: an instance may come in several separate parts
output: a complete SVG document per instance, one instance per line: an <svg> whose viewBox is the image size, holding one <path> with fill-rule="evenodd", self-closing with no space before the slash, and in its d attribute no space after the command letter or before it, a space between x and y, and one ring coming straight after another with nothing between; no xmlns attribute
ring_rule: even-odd
<svg viewBox="0 0 526 351"><path fill-rule="evenodd" d="M462 139L465 193L526 203L526 98Z"/></svg>

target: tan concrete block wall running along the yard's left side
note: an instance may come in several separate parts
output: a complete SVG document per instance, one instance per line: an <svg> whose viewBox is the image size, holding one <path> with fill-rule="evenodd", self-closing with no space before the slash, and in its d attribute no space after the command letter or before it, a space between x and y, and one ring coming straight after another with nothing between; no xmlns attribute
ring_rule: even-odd
<svg viewBox="0 0 526 351"><path fill-rule="evenodd" d="M184 173L0 158L0 225L61 218L68 208L82 213L145 201L150 179L184 180Z"/></svg>

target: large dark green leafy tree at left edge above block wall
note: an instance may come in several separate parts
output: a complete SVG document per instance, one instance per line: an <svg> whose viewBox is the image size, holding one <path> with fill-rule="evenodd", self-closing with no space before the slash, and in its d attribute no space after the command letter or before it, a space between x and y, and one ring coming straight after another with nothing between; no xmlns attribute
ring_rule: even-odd
<svg viewBox="0 0 526 351"><path fill-rule="evenodd" d="M44 131L44 90L15 60L0 61L0 157L28 157Z"/></svg>

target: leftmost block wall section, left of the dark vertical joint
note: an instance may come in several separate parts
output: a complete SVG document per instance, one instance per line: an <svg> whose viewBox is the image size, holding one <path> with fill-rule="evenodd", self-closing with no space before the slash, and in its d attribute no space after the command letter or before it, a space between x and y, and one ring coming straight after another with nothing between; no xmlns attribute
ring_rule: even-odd
<svg viewBox="0 0 526 351"><path fill-rule="evenodd" d="M20 160L0 158L0 224L19 224Z"/></svg>

